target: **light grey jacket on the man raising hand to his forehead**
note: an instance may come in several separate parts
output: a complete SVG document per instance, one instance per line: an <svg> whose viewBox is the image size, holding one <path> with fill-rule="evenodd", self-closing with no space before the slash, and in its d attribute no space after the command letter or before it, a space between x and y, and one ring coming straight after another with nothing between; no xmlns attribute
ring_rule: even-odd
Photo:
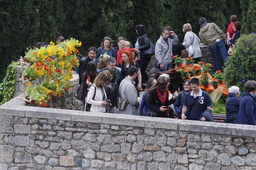
<svg viewBox="0 0 256 170"><path fill-rule="evenodd" d="M173 60L172 48L173 48L173 45L178 44L178 42L179 42L179 39L176 34L173 36L173 40L168 38L168 44L169 44L169 49L168 49L168 45L164 41L162 35L160 36L160 38L156 42L156 48L155 48L155 57L159 64L169 64L172 62L172 60ZM168 51L167 51L167 49L168 49ZM164 57L165 52L166 52L166 55ZM163 57L164 57L164 59L163 59Z"/></svg>

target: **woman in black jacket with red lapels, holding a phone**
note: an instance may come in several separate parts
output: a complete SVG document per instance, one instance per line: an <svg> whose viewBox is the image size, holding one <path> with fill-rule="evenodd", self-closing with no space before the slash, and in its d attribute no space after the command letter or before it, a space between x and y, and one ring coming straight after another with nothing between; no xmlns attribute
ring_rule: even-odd
<svg viewBox="0 0 256 170"><path fill-rule="evenodd" d="M177 95L174 95L170 100L168 99L168 85L170 79L168 77L161 76L157 79L155 86L150 90L147 98L147 108L156 112L157 117L169 117L168 106L173 104ZM148 116L151 114L148 112Z"/></svg>

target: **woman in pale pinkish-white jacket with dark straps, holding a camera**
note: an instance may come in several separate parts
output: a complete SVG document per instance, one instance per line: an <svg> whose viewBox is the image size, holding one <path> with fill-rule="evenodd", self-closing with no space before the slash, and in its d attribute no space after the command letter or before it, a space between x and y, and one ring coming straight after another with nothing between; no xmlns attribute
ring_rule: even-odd
<svg viewBox="0 0 256 170"><path fill-rule="evenodd" d="M106 111L105 106L110 103L103 101L106 98L106 92L104 90L104 84L109 81L109 74L107 70L102 71L93 81L93 85L90 87L87 95L87 103L91 104L91 112L102 112ZM94 95L95 94L95 95Z"/></svg>

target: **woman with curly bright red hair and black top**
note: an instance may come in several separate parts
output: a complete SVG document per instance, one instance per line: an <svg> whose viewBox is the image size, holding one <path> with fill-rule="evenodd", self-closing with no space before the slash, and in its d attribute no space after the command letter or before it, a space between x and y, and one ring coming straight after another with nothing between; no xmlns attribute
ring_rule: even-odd
<svg viewBox="0 0 256 170"><path fill-rule="evenodd" d="M130 50L125 50L122 52L122 58L120 59L120 63L118 64L117 67L121 68L121 73L123 75L123 79L125 79L125 77L127 76L128 73L128 69L131 66L135 66L137 67L138 70L138 75L136 77L135 81L135 87L137 88L137 91L139 91L141 89L141 70L140 70L140 66L138 63L136 63L136 61L133 60L134 58L134 54L130 51ZM139 93L138 93L139 96Z"/></svg>

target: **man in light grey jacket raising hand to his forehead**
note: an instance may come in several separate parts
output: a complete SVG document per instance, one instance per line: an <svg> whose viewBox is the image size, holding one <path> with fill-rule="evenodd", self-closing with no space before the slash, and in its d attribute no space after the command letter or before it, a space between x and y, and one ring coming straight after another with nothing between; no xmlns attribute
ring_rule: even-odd
<svg viewBox="0 0 256 170"><path fill-rule="evenodd" d="M169 34L173 36L173 40L169 38ZM160 64L160 72L166 71L169 69L170 63L173 60L173 45L178 44L178 36L170 31L169 28L164 28L162 36L156 42L155 48L155 57L157 62Z"/></svg>

